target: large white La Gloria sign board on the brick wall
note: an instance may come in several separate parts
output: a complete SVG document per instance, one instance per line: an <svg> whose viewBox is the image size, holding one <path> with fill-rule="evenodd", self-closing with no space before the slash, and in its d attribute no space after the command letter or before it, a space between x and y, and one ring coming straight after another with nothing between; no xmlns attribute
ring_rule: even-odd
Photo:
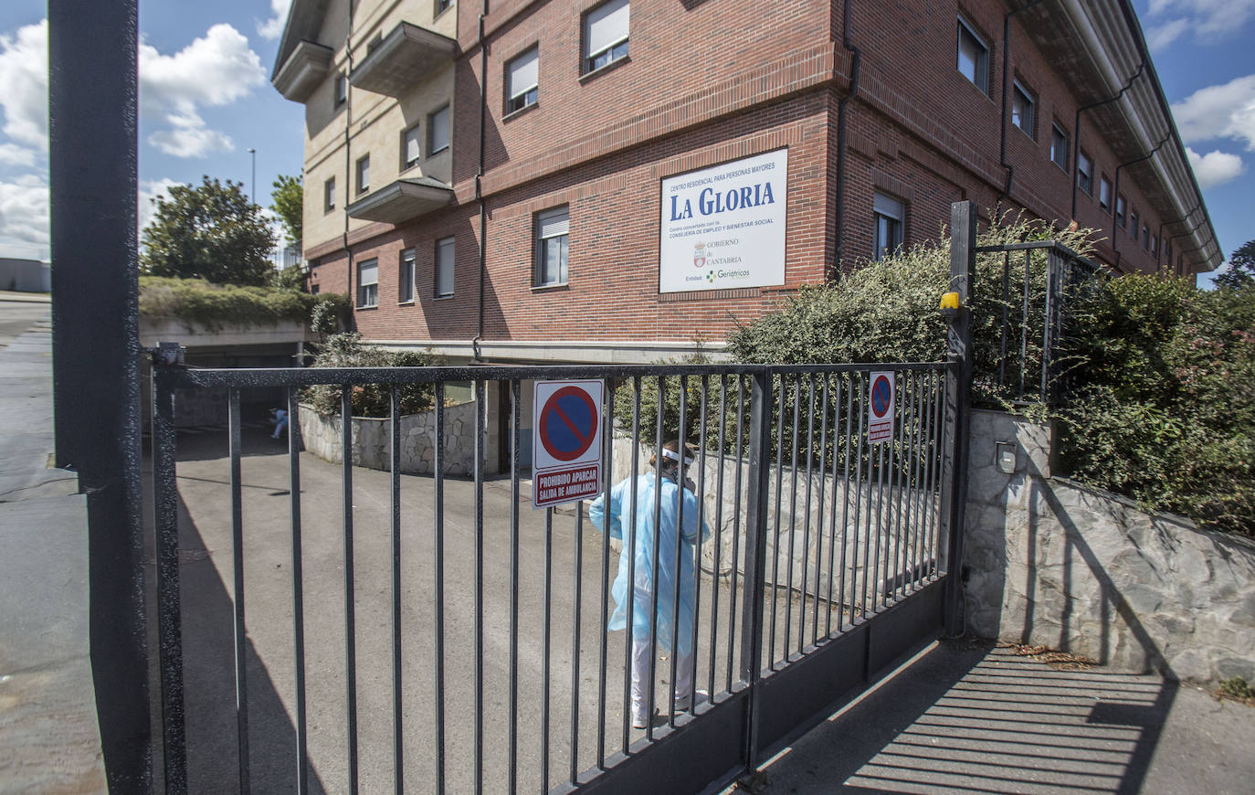
<svg viewBox="0 0 1255 795"><path fill-rule="evenodd" d="M784 284L788 149L663 180L658 291Z"/></svg>

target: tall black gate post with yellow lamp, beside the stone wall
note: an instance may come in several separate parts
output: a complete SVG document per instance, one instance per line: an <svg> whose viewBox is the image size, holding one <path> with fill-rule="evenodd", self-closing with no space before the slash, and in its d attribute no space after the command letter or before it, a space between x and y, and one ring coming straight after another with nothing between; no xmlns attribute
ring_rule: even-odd
<svg viewBox="0 0 1255 795"><path fill-rule="evenodd" d="M950 319L945 377L945 442L943 443L941 521L939 549L945 584L945 632L963 633L963 546L968 506L968 446L971 412L971 309L976 275L976 214L973 202L950 205L950 286L959 294L959 311Z"/></svg>

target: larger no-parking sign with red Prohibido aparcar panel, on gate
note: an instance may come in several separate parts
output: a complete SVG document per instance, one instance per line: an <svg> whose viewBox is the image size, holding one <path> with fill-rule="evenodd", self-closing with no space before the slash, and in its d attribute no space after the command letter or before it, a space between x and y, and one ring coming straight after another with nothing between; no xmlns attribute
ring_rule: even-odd
<svg viewBox="0 0 1255 795"><path fill-rule="evenodd" d="M537 381L532 409L532 507L601 490L601 381Z"/></svg>

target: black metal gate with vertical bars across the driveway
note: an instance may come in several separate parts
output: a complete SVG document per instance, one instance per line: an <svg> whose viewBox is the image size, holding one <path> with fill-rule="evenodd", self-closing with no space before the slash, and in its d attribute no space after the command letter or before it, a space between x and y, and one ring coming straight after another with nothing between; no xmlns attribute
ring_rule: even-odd
<svg viewBox="0 0 1255 795"><path fill-rule="evenodd" d="M870 378L880 370L896 377L895 425L891 438L872 445ZM328 791L346 792L626 792L651 781L668 791L695 791L752 769L801 717L820 715L845 692L840 676L823 674L827 690L809 703L761 693L793 687L793 671L798 682L813 681L806 677L816 677L818 666L801 662L827 654L823 664L845 671L857 661L848 674L855 687L873 677L876 659L887 662L894 649L935 637L949 544L943 496L950 473L944 470L954 465L946 462L955 408L948 379L953 386L955 373L955 363L201 370L154 364L166 791L225 786L221 779L197 779L221 769L205 767L203 760L190 769L188 750L208 742L210 730L203 715L184 712L198 683L186 667L183 628L203 617L184 613L187 592L179 584L176 389L226 389L228 396L222 494L231 504L230 555L215 565L223 583L232 583L235 703L218 706L235 711L236 742L235 759L226 749L217 759L233 762L240 791L294 787L305 794L324 780ZM611 533L601 531L609 526L589 521L586 504L520 511L530 463L520 460L523 384L567 378L617 384L605 402L602 427L615 432L604 435L599 502L624 506L628 550L641 544L638 533L653 544L644 558L653 564L649 576L629 555L626 581L638 587L617 599L611 593L616 545ZM474 397L469 480L446 475L452 428L444 384L467 381ZM368 383L393 387L387 484L355 470L349 452L353 388ZM398 387L414 383L434 387L429 476L400 472L405 442ZM339 516L302 514L299 399L301 388L314 384L341 391ZM272 549L275 539L257 539L245 524L246 515L274 511L245 494L241 393L256 387L287 392L282 556ZM497 427L510 451L510 466L496 479L487 471L489 392L505 396L498 404L506 422ZM669 539L675 548L664 550L659 538L665 534L656 531L665 527L664 487L650 486L658 480L648 456L673 437L695 448L686 489L695 499L695 526L708 527L709 538L689 543L676 531ZM307 479L330 477L328 465L304 463L314 467ZM252 472L281 471L282 457L261 456L248 465ZM646 489L653 499L643 495ZM684 490L671 491L676 526L684 527ZM605 510L605 525L610 514ZM384 535L387 553L374 546ZM250 540L266 546L247 550ZM251 556L265 560L266 569ZM275 574L284 565L290 574ZM275 578L285 576L286 604L274 598L246 603L246 584L274 594ZM620 635L609 627L621 598L628 620ZM653 661L645 703L661 703L661 713L641 730L629 708L638 598L651 599L643 612L645 653ZM330 608L340 599L341 615L333 622ZM894 624L894 615L905 618ZM878 622L882 639L872 644ZM284 625L290 629L281 632ZM343 664L333 659L341 651ZM250 663L250 652L260 664ZM309 676L311 668L320 673ZM343 669L343 678L325 676L328 669ZM270 677L281 712L290 716L294 755L286 764L256 754L250 672ZM692 682L689 700L678 679ZM202 693L197 702L206 698ZM343 708L328 706L340 700ZM316 721L310 705L318 705Z"/></svg>

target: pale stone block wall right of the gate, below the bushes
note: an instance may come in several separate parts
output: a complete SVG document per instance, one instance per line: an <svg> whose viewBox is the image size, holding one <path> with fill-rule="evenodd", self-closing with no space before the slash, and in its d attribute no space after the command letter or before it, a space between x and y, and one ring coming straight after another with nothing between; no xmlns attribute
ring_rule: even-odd
<svg viewBox="0 0 1255 795"><path fill-rule="evenodd" d="M976 411L971 428L969 632L1117 671L1255 679L1255 544L1052 477L1045 426Z"/></svg>

